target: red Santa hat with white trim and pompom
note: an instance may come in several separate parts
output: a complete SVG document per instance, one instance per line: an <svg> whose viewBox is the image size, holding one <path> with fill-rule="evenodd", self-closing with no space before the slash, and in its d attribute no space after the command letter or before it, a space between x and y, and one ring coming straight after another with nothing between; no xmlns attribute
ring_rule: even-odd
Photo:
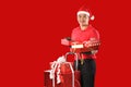
<svg viewBox="0 0 131 87"><path fill-rule="evenodd" d="M86 14L90 17L90 20L92 20L92 21L95 18L95 16L92 14L92 12L85 7L80 8L80 10L78 11L78 15L79 14Z"/></svg>

